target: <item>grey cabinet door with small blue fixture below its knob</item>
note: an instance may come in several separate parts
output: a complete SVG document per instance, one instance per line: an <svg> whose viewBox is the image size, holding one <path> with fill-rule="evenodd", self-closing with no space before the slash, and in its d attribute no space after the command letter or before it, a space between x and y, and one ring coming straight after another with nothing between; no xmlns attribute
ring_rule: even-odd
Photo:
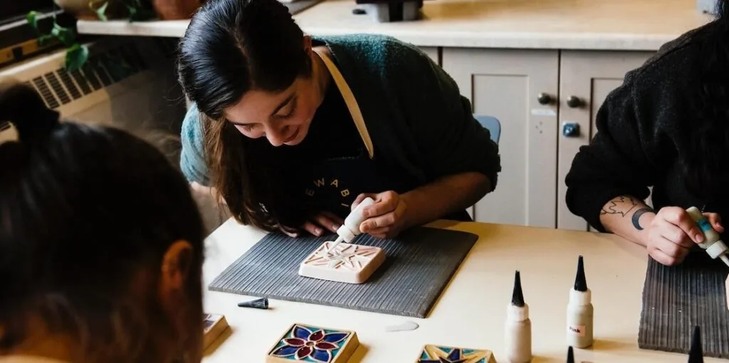
<svg viewBox="0 0 729 363"><path fill-rule="evenodd" d="M625 73L639 68L652 52L563 51L560 61L560 136L558 154L557 227L588 230L585 219L565 203L574 155L596 133L595 116L608 93L623 84Z"/></svg>

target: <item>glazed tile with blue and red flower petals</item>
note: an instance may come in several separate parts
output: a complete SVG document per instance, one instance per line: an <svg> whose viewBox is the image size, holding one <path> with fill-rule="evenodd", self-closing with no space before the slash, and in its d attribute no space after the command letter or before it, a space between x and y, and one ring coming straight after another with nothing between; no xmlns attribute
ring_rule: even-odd
<svg viewBox="0 0 729 363"><path fill-rule="evenodd" d="M345 363L358 346L356 332L293 324L270 349L266 363Z"/></svg>

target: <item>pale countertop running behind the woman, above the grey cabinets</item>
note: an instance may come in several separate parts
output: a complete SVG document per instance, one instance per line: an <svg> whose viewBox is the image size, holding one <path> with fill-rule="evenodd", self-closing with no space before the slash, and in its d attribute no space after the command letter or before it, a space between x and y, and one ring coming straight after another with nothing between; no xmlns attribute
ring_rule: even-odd
<svg viewBox="0 0 729 363"><path fill-rule="evenodd" d="M354 0L327 0L295 15L305 33L377 33L421 47L658 50L710 21L695 0L426 0L424 18L377 23ZM187 20L79 21L82 34L184 35Z"/></svg>

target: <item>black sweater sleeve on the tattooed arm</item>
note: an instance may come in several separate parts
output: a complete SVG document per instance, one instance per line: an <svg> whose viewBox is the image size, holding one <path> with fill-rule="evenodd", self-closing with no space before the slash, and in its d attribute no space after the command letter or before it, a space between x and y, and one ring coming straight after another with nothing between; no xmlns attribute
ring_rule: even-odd
<svg viewBox="0 0 729 363"><path fill-rule="evenodd" d="M566 176L566 204L592 227L605 232L600 214L620 195L644 200L672 147L665 128L677 125L674 87L655 61L628 72L596 115L597 133L581 147Z"/></svg>

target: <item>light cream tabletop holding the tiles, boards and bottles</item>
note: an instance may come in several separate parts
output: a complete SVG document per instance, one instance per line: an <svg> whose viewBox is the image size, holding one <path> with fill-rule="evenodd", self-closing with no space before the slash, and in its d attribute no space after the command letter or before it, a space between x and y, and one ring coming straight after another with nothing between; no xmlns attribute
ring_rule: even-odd
<svg viewBox="0 0 729 363"><path fill-rule="evenodd" d="M517 269L531 311L533 362L565 362L566 303L580 254L593 292L596 343L577 349L577 362L686 362L682 354L638 348L647 268L642 247L586 232L449 221L429 226L475 233L479 239L427 319L278 300L271 300L266 311L238 308L238 302L252 297L206 289L206 311L224 314L231 329L208 349L204 362L264 362L270 346L294 322L356 331L362 344L350 362L415 362L426 343L491 349L503 362L505 312ZM206 241L206 286L264 235L233 220L219 227ZM386 326L407 320L420 328L385 332Z"/></svg>

